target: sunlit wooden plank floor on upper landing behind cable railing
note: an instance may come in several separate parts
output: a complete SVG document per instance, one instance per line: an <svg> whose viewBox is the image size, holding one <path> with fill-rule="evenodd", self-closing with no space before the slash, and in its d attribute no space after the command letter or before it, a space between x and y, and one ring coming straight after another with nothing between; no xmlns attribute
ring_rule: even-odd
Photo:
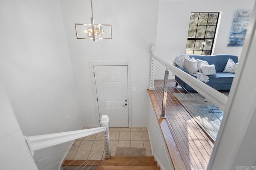
<svg viewBox="0 0 256 170"><path fill-rule="evenodd" d="M163 80L155 80L154 94L162 108ZM175 134L176 143L187 169L204 170L207 168L213 148L206 133L190 116L188 111L173 96L173 93L184 92L175 86L174 80L168 82L166 117Z"/></svg>

